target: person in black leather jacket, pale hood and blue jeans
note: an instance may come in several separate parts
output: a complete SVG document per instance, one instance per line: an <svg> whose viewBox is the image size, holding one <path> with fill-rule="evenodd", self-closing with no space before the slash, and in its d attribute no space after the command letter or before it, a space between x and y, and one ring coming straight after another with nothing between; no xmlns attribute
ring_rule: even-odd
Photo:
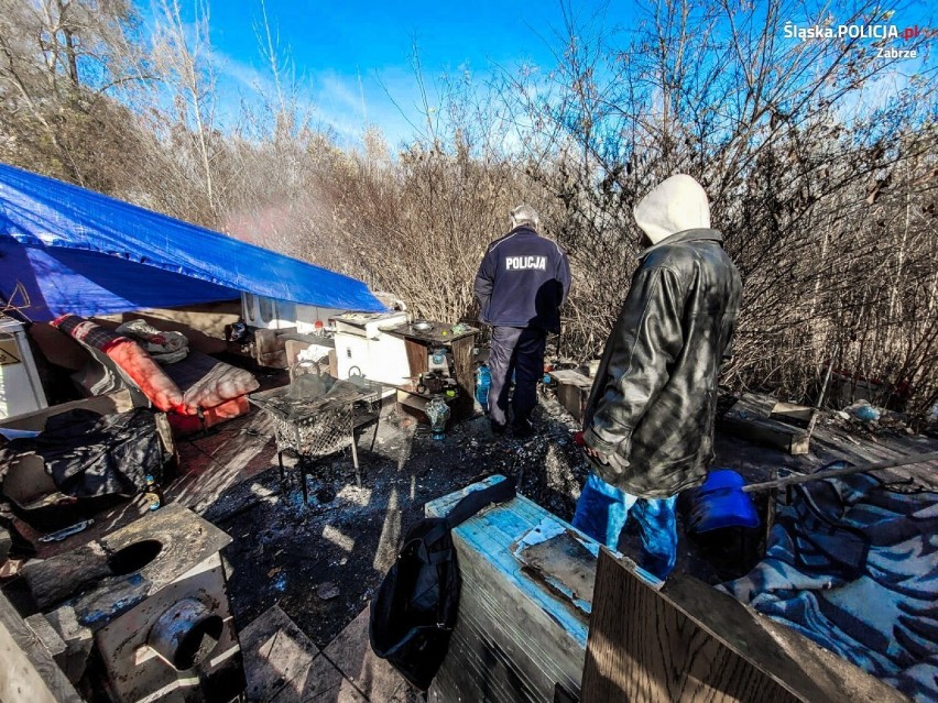
<svg viewBox="0 0 938 703"><path fill-rule="evenodd" d="M612 328L583 414L592 473L574 526L615 549L637 521L640 565L659 579L677 554L677 493L713 458L717 377L739 311L739 272L710 229L704 188L677 175L634 209L651 245Z"/></svg>

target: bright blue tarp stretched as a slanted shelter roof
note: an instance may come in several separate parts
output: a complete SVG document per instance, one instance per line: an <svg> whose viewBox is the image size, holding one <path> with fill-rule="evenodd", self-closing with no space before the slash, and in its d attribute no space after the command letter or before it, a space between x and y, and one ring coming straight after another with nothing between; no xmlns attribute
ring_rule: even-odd
<svg viewBox="0 0 938 703"><path fill-rule="evenodd" d="M18 286L33 321L228 300L240 292L384 309L355 278L0 164L0 304Z"/></svg>

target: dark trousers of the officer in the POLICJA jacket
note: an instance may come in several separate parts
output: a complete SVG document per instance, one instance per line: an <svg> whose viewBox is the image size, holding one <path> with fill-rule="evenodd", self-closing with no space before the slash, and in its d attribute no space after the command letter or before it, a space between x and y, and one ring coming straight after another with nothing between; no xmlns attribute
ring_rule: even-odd
<svg viewBox="0 0 938 703"><path fill-rule="evenodd" d="M533 327L493 327L489 353L492 387L489 389L489 417L493 422L509 421L509 392L514 373L513 422L523 425L537 405L537 382L544 376L544 345L547 332Z"/></svg>

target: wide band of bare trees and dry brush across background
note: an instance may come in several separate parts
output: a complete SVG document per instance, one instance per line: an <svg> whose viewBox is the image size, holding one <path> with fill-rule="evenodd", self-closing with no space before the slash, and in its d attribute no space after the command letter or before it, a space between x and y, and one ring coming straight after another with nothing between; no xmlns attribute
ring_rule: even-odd
<svg viewBox="0 0 938 703"><path fill-rule="evenodd" d="M0 0L0 153L13 163L221 228L473 319L486 245L521 201L568 249L565 349L596 353L628 290L633 205L698 178L744 277L727 382L814 400L835 359L879 402L938 398L934 61L842 26L890 25L902 0L652 0L634 26L561 4L549 70L494 85L425 78L415 135L374 125L340 147L259 0L265 70L219 119L208 14L159 0ZM811 29L832 37L799 36ZM804 32L803 32L804 34ZM909 73L914 75L904 75ZM890 79L903 89L887 90Z"/></svg>

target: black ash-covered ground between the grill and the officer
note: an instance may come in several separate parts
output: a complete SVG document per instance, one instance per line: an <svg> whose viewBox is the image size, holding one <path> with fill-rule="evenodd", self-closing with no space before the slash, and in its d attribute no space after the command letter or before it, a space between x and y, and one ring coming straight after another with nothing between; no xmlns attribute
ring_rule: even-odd
<svg viewBox="0 0 938 703"><path fill-rule="evenodd" d="M549 391L533 420L530 438L497 437L478 414L434 440L388 408L358 433L361 487L346 451L312 465L306 505L287 455L283 485L274 463L222 494L205 517L233 538L225 557L238 626L276 604L325 646L374 594L424 504L481 476L516 476L521 494L570 519L588 470L578 428Z"/></svg>

